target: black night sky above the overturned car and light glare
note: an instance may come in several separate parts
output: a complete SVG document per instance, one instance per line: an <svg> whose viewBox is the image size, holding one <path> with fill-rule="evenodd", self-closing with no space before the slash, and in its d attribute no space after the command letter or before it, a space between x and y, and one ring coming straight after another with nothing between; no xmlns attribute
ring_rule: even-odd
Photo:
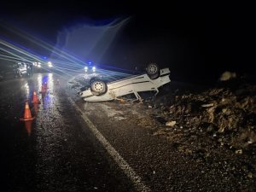
<svg viewBox="0 0 256 192"><path fill-rule="evenodd" d="M55 42L61 27L74 20L131 16L108 50L108 55L114 57L105 58L105 62L119 67L156 61L170 67L173 77L181 80L212 79L224 70L254 72L247 52L251 13L235 10L229 3L8 1L0 9L3 20L12 20L51 42ZM241 56L245 53L246 57Z"/></svg>

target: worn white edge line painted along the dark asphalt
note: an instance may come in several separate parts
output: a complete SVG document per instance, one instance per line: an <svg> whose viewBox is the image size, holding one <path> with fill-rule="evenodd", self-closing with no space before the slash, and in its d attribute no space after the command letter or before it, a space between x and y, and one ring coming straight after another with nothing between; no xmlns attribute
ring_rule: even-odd
<svg viewBox="0 0 256 192"><path fill-rule="evenodd" d="M76 108L80 113L81 117L84 119L85 123L90 128L90 131L95 135L97 140L102 143L103 147L106 148L108 154L110 154L113 160L118 164L118 166L125 172L125 175L131 179L135 188L139 192L149 192L151 191L142 181L142 178L137 175L137 173L129 166L129 164L124 160L124 158L112 147L108 140L102 135L100 131L97 130L96 126L90 121L90 119L83 113L83 111L70 99L73 103L73 107Z"/></svg>

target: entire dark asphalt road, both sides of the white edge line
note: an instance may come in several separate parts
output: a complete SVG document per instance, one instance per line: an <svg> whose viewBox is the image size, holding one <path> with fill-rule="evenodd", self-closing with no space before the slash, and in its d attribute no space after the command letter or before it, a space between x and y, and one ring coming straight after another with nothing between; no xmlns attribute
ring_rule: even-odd
<svg viewBox="0 0 256 192"><path fill-rule="evenodd" d="M255 191L226 169L229 158L206 163L154 136L145 106L82 101L74 77L0 83L1 191ZM20 121L27 99L31 127Z"/></svg>

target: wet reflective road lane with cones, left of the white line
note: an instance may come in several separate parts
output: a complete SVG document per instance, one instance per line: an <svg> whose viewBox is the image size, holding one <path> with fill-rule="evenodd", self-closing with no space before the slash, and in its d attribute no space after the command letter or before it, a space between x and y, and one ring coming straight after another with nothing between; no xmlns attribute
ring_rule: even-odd
<svg viewBox="0 0 256 192"><path fill-rule="evenodd" d="M134 191L50 73L0 83L2 191ZM39 94L42 84L47 92ZM63 85L64 84L64 85ZM41 102L32 104L36 90ZM20 121L28 99L31 125Z"/></svg>

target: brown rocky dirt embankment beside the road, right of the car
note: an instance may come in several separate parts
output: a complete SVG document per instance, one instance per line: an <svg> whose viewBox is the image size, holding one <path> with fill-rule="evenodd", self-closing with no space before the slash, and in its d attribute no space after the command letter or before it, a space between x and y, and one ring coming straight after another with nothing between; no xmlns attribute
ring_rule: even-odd
<svg viewBox="0 0 256 192"><path fill-rule="evenodd" d="M150 114L138 125L153 129L174 148L214 164L230 160L230 172L256 177L256 85L219 84L201 91L173 90L143 102Z"/></svg>

